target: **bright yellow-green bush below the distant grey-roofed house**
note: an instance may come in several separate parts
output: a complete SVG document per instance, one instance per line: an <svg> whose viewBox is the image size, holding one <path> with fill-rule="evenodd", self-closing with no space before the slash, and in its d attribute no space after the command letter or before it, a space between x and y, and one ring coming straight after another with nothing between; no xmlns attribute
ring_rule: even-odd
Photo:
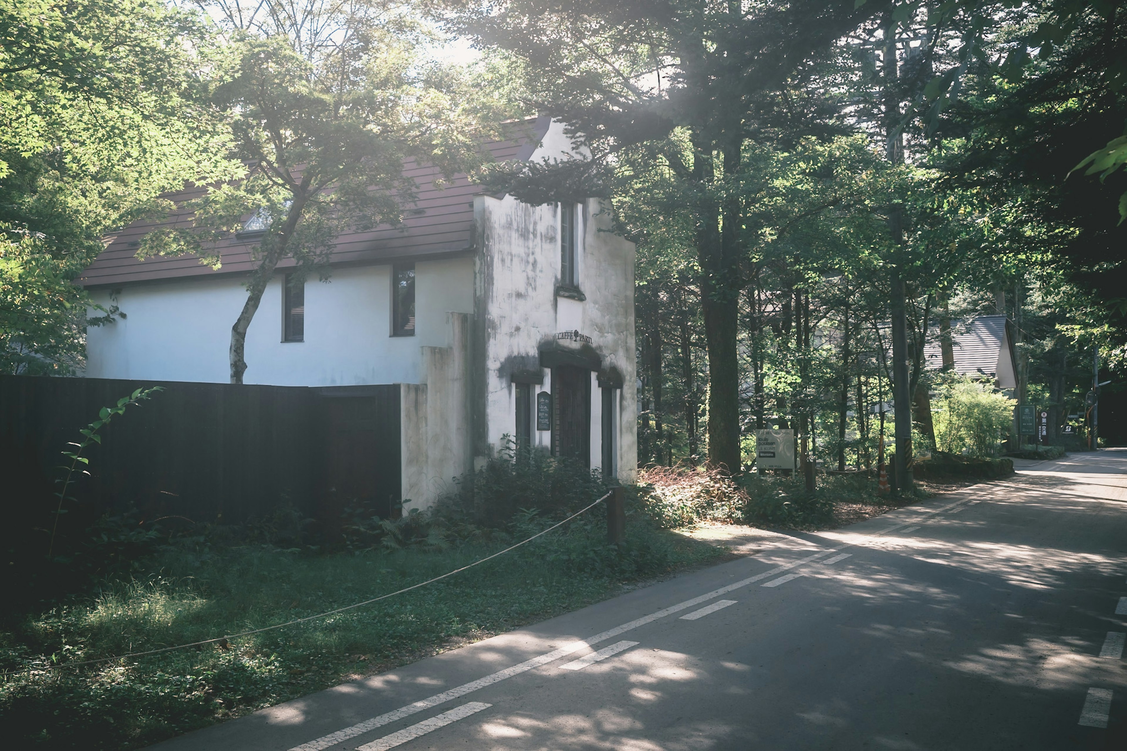
<svg viewBox="0 0 1127 751"><path fill-rule="evenodd" d="M967 377L952 377L932 401L937 449L988 459L1009 434L1017 403Z"/></svg>

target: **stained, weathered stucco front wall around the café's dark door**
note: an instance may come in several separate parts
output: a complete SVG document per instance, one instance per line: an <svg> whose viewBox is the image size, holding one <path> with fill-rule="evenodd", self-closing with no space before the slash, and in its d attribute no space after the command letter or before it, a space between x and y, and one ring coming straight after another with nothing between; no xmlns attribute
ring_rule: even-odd
<svg viewBox="0 0 1127 751"><path fill-rule="evenodd" d="M554 126L553 126L554 127ZM535 156L533 157L535 158ZM540 347L560 332L592 338L604 369L615 368L622 389L615 397L616 469L633 481L637 466L633 244L612 233L601 202L583 205L577 248L578 288L586 297L557 295L560 280L559 207L531 206L511 196L479 196L474 202L479 251L476 272L478 416L474 452L496 453L505 434L516 432L515 371L539 370L551 391L551 371L540 368ZM569 346L569 343L560 343ZM576 345L578 348L578 345ZM602 400L592 372L591 466L602 465ZM538 431L547 448L550 433Z"/></svg>

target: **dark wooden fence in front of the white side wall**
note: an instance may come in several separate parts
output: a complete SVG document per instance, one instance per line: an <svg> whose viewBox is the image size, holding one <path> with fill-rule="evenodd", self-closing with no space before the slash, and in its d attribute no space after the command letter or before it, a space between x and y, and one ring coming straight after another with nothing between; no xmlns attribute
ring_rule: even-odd
<svg viewBox="0 0 1127 751"><path fill-rule="evenodd" d="M115 417L73 495L97 510L241 522L283 504L328 527L354 500L400 493L399 386L305 388L0 376L2 505L50 503L60 454L104 406ZM9 510L12 506L9 506Z"/></svg>

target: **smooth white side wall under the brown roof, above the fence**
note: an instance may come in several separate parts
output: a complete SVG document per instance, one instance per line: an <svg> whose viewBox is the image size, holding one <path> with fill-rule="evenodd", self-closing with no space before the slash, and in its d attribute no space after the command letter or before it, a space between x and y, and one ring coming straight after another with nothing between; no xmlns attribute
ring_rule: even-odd
<svg viewBox="0 0 1127 751"><path fill-rule="evenodd" d="M447 311L473 310L473 259L416 264L416 335L392 337L391 266L336 270L305 283L305 341L282 342L281 276L247 332L247 383L355 386L424 380L421 346L446 346ZM109 292L95 299L108 306ZM238 279L127 286L126 318L87 333L92 378L227 382L231 325L247 293Z"/></svg>

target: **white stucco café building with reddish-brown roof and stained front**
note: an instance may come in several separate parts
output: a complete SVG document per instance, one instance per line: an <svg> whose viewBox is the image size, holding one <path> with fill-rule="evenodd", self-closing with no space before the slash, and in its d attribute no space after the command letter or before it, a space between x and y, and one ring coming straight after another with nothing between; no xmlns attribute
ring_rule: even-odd
<svg viewBox="0 0 1127 751"><path fill-rule="evenodd" d="M558 122L513 127L512 140L490 144L499 160L574 156ZM595 198L532 206L465 178L438 189L435 170L409 171L415 212L400 228L340 236L327 282L287 286L293 262L278 266L247 333L245 382L357 399L365 387L398 385L398 425L363 430L399 431L399 487L376 494L407 507L449 491L505 435L632 481L635 253L610 231L609 207ZM153 227L118 233L82 279L124 313L89 329L86 376L227 382L254 231L221 247L213 271L190 256L139 260ZM363 441L341 445L354 444ZM347 461L366 460L361 450Z"/></svg>

